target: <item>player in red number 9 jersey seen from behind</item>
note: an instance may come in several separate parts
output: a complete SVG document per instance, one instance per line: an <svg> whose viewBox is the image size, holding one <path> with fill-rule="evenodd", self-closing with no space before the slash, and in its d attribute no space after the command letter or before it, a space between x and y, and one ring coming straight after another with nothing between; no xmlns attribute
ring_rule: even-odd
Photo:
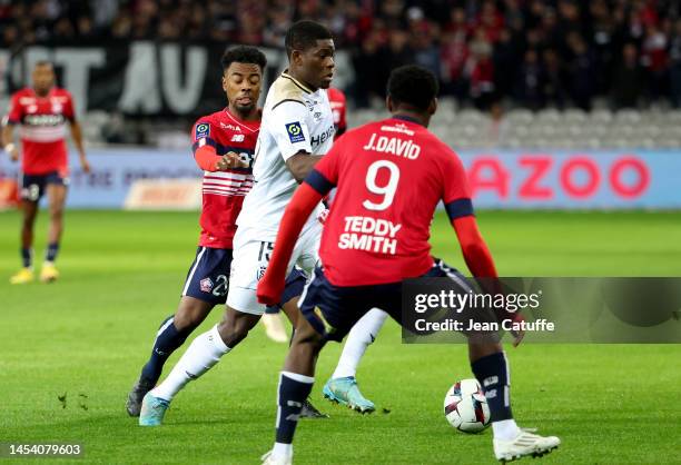
<svg viewBox="0 0 681 465"><path fill-rule="evenodd" d="M388 80L392 118L347 132L319 160L286 208L258 300L277 301L300 229L333 188L317 268L299 303L299 318L279 377L276 442L267 464L293 462L300 404L314 384L317 356L328 340L342 340L371 308L402 323L402 281L452 279L462 293L466 278L430 254L430 224L445 205L466 265L475 278L496 278L492 256L473 216L465 171L457 156L426 128L437 108L437 80L420 67L397 68ZM519 316L520 317L520 316ZM514 345L522 338L515 335ZM521 429L510 403L510 372L501 343L470 338L471 368L491 410L494 455L500 461L539 456L559 446L555 436Z"/></svg>

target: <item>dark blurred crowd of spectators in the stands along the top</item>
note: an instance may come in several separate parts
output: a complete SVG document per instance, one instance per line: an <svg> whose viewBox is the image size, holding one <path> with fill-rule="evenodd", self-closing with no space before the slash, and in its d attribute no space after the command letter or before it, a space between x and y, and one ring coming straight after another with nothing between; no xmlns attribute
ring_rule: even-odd
<svg viewBox="0 0 681 465"><path fill-rule="evenodd" d="M591 108L671 99L681 106L681 7L672 0L4 0L0 40L20 51L39 42L79 39L209 40L280 47L298 17L325 22L338 50L351 52L359 106L382 97L387 73L417 62L436 71L443 91L487 106L519 99L535 108ZM625 44L638 48L626 63ZM630 47L626 47L631 49ZM473 52L476 50L477 52ZM543 83L530 89L535 50ZM490 61L491 60L491 61ZM520 67L523 66L521 70ZM641 79L641 66L648 81ZM634 81L616 71L624 69ZM372 72L367 72L372 70ZM490 82L490 77L492 81ZM640 86L640 87L638 87ZM531 91L532 90L532 91ZM535 92L535 93L533 93ZM542 99L530 95L543 95Z"/></svg>

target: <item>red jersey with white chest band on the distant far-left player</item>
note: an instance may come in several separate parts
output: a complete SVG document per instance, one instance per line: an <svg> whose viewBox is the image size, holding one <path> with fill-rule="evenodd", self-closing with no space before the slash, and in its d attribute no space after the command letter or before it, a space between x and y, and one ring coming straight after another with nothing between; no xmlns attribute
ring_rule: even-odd
<svg viewBox="0 0 681 465"><path fill-rule="evenodd" d="M52 87L46 97L39 97L27 87L12 95L7 120L21 125L21 170L26 175L68 175L66 123L75 117L71 95L65 89Z"/></svg>

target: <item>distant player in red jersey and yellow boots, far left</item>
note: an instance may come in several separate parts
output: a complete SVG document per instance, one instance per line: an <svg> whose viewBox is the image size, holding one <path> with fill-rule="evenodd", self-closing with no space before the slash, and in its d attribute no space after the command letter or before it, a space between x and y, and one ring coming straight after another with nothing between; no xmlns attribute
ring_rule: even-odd
<svg viewBox="0 0 681 465"><path fill-rule="evenodd" d="M69 184L69 160L65 140L67 123L80 156L80 166L85 172L90 171L82 147L80 125L76 121L73 100L68 91L55 85L52 65L48 61L37 62L32 81L33 87L21 89L12 96L1 135L2 146L10 159L17 161L21 158L22 268L10 278L11 284L33 280L33 225L38 204L45 194L49 200L50 228L40 279L50 283L59 277L55 260L63 231L63 206ZM14 126L20 126L21 157L13 142Z"/></svg>

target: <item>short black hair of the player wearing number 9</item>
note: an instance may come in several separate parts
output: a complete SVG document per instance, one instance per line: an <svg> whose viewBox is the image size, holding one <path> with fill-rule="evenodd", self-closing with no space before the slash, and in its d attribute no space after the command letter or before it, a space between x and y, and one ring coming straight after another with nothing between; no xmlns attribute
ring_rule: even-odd
<svg viewBox="0 0 681 465"><path fill-rule="evenodd" d="M437 97L440 83L433 72L425 68L407 65L395 68L387 83L387 95L395 103L406 103L425 111Z"/></svg>

